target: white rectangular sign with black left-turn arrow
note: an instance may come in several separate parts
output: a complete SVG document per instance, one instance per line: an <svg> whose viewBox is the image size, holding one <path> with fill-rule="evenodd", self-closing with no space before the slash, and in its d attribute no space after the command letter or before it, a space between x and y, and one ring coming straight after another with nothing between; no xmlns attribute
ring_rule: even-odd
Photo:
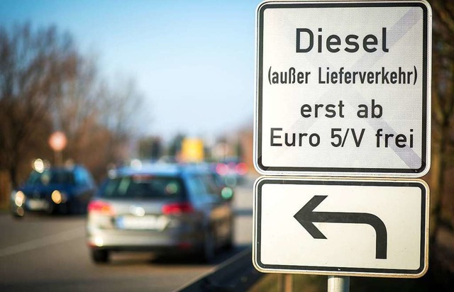
<svg viewBox="0 0 454 292"><path fill-rule="evenodd" d="M428 268L422 180L262 176L253 262L262 272L416 278Z"/></svg>

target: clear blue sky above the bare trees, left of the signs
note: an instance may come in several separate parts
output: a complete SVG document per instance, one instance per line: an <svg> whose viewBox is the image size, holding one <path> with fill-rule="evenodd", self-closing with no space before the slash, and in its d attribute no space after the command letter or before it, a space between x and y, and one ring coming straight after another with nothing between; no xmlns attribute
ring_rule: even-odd
<svg viewBox="0 0 454 292"><path fill-rule="evenodd" d="M0 0L0 26L56 25L109 82L145 97L138 132L214 139L253 128L260 0Z"/></svg>

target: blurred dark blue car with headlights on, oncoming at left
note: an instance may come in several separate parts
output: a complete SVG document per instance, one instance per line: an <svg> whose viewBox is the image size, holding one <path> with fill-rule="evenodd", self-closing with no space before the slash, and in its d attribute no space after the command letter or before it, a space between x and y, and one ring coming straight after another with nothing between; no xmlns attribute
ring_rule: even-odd
<svg viewBox="0 0 454 292"><path fill-rule="evenodd" d="M26 184L11 193L11 213L84 213L95 191L92 175L80 165L33 170Z"/></svg>

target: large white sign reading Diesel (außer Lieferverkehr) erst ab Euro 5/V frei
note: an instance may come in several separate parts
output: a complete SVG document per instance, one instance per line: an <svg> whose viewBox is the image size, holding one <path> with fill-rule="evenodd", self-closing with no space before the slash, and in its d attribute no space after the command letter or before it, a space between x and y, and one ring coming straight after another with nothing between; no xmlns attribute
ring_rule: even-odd
<svg viewBox="0 0 454 292"><path fill-rule="evenodd" d="M258 172L428 172L432 16L425 0L265 2L257 17Z"/></svg>

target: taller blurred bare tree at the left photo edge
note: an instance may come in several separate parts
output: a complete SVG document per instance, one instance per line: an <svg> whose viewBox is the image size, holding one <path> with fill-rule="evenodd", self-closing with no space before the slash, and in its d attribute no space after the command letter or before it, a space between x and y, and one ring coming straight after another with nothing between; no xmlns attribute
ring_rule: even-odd
<svg viewBox="0 0 454 292"><path fill-rule="evenodd" d="M0 169L13 186L21 162L43 148L50 105L74 76L75 55L70 35L55 27L0 27Z"/></svg>

